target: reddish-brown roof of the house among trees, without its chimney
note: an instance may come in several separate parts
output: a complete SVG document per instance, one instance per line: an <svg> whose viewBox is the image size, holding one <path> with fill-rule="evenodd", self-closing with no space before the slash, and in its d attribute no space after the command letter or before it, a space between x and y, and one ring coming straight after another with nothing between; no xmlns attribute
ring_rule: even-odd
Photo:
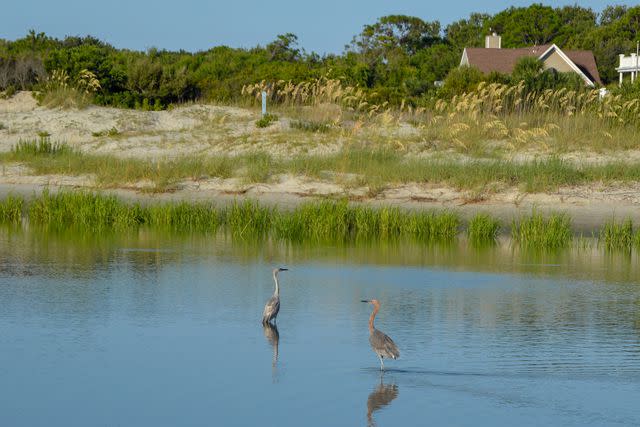
<svg viewBox="0 0 640 427"><path fill-rule="evenodd" d="M553 46L547 44L519 49L468 47L465 48L465 54L469 65L478 68L483 73L497 71L503 74L510 74L520 58L524 56L540 57ZM559 48L557 49L560 50ZM602 84L593 52L590 50L563 50L561 52L569 57L592 82Z"/></svg>

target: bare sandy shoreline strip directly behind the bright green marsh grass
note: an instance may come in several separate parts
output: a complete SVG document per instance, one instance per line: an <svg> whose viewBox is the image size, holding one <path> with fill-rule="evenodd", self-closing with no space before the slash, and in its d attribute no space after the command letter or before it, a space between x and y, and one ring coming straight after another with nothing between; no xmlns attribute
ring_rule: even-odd
<svg viewBox="0 0 640 427"><path fill-rule="evenodd" d="M26 181L26 180L25 180ZM392 206L402 210L450 210L456 212L462 220L469 221L477 213L487 213L503 224L503 232L510 228L511 222L524 215L537 211L545 216L551 213L564 213L571 219L571 229L576 234L588 237L597 233L607 222L631 219L640 223L640 209L636 203L623 203L606 199L583 197L581 200L567 200L559 194L517 194L509 195L505 200L504 194L497 194L493 199L482 201L465 201L455 197L455 193L447 189L435 189L431 196L418 197L408 195L404 190L395 188L386 193L386 197L349 197L349 193L303 193L287 191L278 186L267 184L247 185L233 191L229 188L208 186L183 187L172 192L145 193L134 189L112 188L100 189L78 183L61 183L58 181L43 182L2 182L0 180L0 199L9 195L22 196L25 199L39 196L43 191L52 193L59 191L91 191L100 194L113 195L119 199L141 204L162 202L213 202L219 206L226 206L236 200L255 200L260 204L278 207L285 210L293 209L302 203L314 200L348 198L350 204L368 205L371 207ZM406 190L406 189L405 189ZM437 197L440 192L441 197ZM453 196L452 196L453 194ZM436 196L436 197L432 197Z"/></svg>

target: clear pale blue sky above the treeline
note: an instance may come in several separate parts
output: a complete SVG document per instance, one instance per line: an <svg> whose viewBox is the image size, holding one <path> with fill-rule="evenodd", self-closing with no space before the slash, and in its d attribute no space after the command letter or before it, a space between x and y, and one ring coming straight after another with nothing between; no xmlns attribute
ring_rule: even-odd
<svg viewBox="0 0 640 427"><path fill-rule="evenodd" d="M0 38L15 39L31 28L48 35L93 35L116 47L158 47L197 51L217 45L265 45L277 34L295 33L307 51L339 53L364 24L380 16L405 14L443 25L471 12L495 13L520 0L22 0L2 6ZM543 1L579 3L596 12L626 0Z"/></svg>

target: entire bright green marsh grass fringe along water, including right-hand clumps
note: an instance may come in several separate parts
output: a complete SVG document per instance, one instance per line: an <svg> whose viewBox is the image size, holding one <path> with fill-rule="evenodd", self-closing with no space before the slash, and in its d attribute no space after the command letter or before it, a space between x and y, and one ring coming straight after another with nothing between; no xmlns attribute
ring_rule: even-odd
<svg viewBox="0 0 640 427"><path fill-rule="evenodd" d="M353 242L412 239L448 242L461 234L472 244L496 241L501 229L496 218L480 213L463 224L457 213L409 211L392 207L371 208L346 201L304 203L292 210L266 207L253 201L229 206L203 203L125 203L114 196L89 192L43 193L23 200L0 201L0 223L21 223L51 229L125 231L140 227L179 232L224 232L241 239L275 239L288 242ZM561 249L575 240L571 219L565 214L547 217L538 212L514 219L512 241L526 248ZM640 248L640 230L630 220L611 221L597 234L608 250Z"/></svg>

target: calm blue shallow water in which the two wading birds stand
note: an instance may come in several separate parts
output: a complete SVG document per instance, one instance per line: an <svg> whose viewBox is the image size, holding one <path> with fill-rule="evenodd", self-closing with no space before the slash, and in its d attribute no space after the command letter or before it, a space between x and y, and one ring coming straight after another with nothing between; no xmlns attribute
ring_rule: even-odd
<svg viewBox="0 0 640 427"><path fill-rule="evenodd" d="M639 425L638 271L600 249L2 230L0 425ZM400 348L384 374L364 298Z"/></svg>

